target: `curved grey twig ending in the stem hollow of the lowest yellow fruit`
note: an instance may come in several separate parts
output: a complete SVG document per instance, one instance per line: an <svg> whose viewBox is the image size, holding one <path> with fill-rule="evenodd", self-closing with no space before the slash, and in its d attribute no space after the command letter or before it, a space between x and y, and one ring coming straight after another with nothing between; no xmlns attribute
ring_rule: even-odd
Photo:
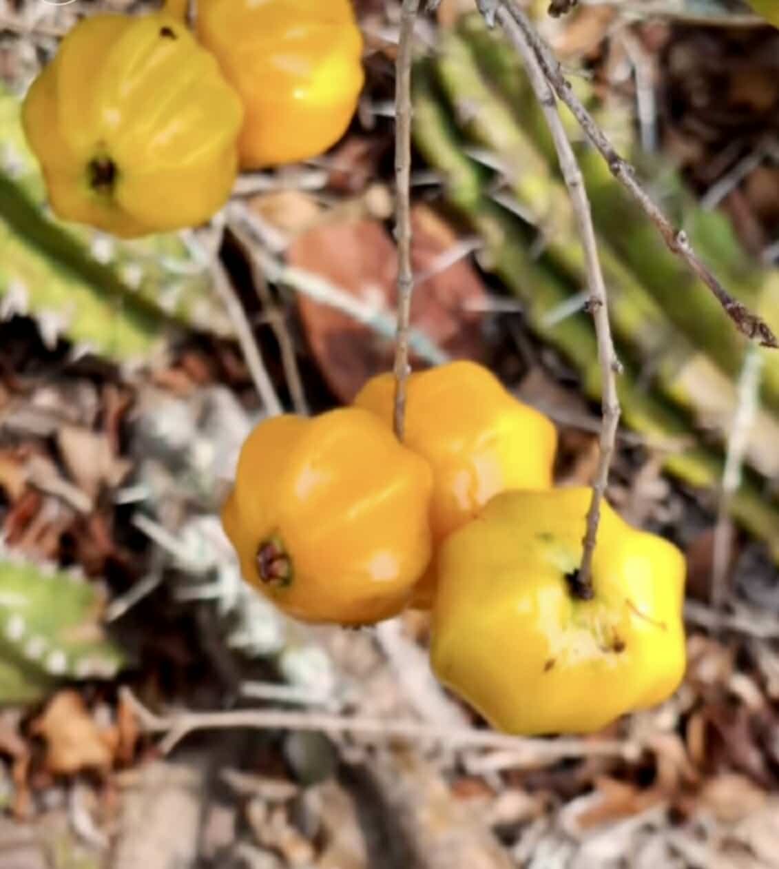
<svg viewBox="0 0 779 869"><path fill-rule="evenodd" d="M549 125L551 137L558 154L560 169L563 173L565 186L571 197L571 206L578 226L579 237L584 248L584 259L587 270L587 285L590 293L588 307L595 322L597 337L597 355L601 370L601 407L603 417L600 427L600 457L597 463L595 479L592 482L592 499L587 511L586 530L584 533L584 552L578 570L576 582L571 585L576 594L584 598L592 596L591 566L592 554L595 550L597 525L600 521L600 507L606 486L609 481L611 455L614 452L614 441L617 437L619 423L619 398L617 396L617 372L620 365L611 339L609 323L609 308L606 297L606 286L600 258L597 255L595 228L592 225L592 214L584 178L579 169L576 156L565 135L563 122L558 114L558 104L546 80L544 70L531 49L522 30L514 22L505 9L498 10L498 21L503 26L510 42L522 57L532 89L538 103L544 110L546 123Z"/></svg>

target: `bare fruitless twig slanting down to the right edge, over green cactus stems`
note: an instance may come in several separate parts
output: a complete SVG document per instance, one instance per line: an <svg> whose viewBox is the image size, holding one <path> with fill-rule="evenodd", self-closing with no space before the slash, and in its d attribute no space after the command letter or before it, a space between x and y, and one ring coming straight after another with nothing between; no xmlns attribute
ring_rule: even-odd
<svg viewBox="0 0 779 869"><path fill-rule="evenodd" d="M546 80L551 84L558 99L571 109L571 114L577 119L579 126L584 131L584 135L603 156L611 171L611 175L628 190L644 211L644 214L655 224L670 251L682 259L693 274L711 290L716 300L722 305L725 313L736 324L738 330L748 338L762 344L763 347L779 347L776 335L769 328L769 325L761 317L752 314L746 305L738 302L729 294L728 290L723 287L711 273L710 269L699 259L690 244L687 234L682 229L676 229L671 224L670 220L663 214L663 211L658 208L646 190L637 182L635 169L622 156L617 154L617 150L614 149L614 146L608 137L605 136L603 130L597 126L590 113L574 94L551 49L541 36L538 36L538 32L518 3L515 0L477 0L477 3L479 10L485 17L486 23L490 26L495 23L498 8L506 10L511 15L530 45L538 64L544 71Z"/></svg>

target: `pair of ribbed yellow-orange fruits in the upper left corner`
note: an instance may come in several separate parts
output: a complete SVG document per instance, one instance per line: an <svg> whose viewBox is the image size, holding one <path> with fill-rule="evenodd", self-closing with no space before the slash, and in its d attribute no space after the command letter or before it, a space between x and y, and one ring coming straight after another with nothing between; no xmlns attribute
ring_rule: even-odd
<svg viewBox="0 0 779 869"><path fill-rule="evenodd" d="M32 83L23 123L64 220L134 237L196 226L239 169L321 154L363 84L350 0L180 0L83 18Z"/></svg>

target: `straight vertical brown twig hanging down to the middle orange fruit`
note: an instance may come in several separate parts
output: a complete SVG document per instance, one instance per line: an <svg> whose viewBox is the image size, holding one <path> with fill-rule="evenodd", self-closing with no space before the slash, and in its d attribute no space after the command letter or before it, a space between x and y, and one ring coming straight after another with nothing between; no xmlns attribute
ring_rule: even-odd
<svg viewBox="0 0 779 869"><path fill-rule="evenodd" d="M409 375L408 330L411 322L411 62L419 0L403 0L398 56L395 61L395 237L398 242L398 329L395 338L395 434L402 440Z"/></svg>

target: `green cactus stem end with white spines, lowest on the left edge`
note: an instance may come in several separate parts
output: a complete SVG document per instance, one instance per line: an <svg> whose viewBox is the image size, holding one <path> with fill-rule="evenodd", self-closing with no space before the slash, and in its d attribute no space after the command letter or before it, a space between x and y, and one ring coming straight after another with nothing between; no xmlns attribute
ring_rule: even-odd
<svg viewBox="0 0 779 869"><path fill-rule="evenodd" d="M112 679L102 596L76 571L27 561L0 542L0 705L42 697L60 679Z"/></svg>

